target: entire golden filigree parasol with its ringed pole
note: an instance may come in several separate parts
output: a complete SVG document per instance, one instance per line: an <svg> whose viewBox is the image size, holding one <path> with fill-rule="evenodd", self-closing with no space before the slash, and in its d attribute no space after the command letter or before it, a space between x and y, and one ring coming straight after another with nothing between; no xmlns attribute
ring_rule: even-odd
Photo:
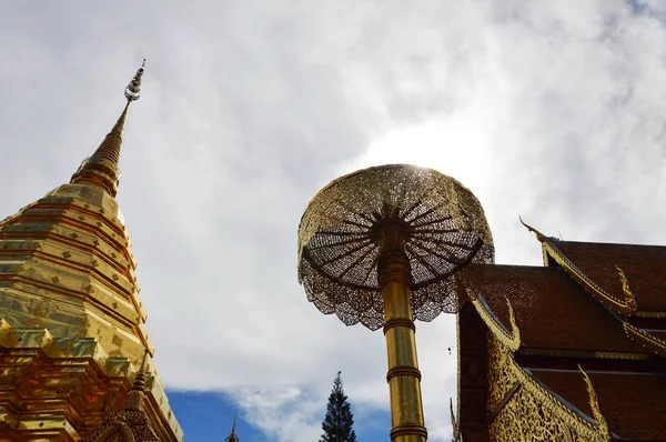
<svg viewBox="0 0 666 442"><path fill-rule="evenodd" d="M384 327L391 439L425 441L414 319L457 310L460 270L492 263L493 241L470 190L432 169L390 164L339 178L299 228L307 300L347 325Z"/></svg>

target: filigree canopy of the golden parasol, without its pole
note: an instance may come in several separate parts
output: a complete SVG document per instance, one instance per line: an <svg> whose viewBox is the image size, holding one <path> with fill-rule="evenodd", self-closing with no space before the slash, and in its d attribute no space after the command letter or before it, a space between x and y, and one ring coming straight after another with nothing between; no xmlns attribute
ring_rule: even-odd
<svg viewBox="0 0 666 442"><path fill-rule="evenodd" d="M494 261L483 208L458 181L408 164L360 170L322 189L299 227L299 282L322 313L347 325L383 325L377 242L386 223L401 225L420 321L454 313L458 270Z"/></svg>

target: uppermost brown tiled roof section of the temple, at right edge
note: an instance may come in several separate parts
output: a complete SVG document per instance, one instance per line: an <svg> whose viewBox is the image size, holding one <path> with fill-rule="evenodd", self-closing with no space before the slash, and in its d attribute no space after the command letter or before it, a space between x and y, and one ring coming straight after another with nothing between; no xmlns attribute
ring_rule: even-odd
<svg viewBox="0 0 666 442"><path fill-rule="evenodd" d="M666 312L666 247L554 239L548 242L603 291L624 300L615 265L619 267L636 297L638 311Z"/></svg>

